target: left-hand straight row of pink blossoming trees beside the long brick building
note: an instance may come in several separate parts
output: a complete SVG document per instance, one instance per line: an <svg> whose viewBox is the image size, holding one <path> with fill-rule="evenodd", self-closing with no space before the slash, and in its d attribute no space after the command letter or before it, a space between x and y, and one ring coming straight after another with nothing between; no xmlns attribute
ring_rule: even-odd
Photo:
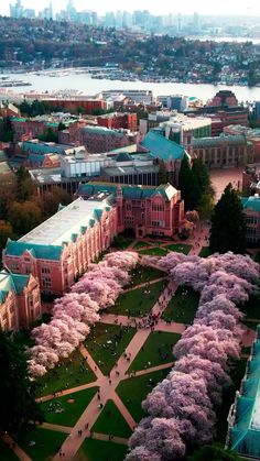
<svg viewBox="0 0 260 461"><path fill-rule="evenodd" d="M115 304L123 285L130 281L129 271L137 263L134 252L107 254L100 263L90 264L72 293L54 301L50 323L42 323L32 331L36 343L28 361L32 376L45 374L85 340L89 327L100 318L98 311Z"/></svg>

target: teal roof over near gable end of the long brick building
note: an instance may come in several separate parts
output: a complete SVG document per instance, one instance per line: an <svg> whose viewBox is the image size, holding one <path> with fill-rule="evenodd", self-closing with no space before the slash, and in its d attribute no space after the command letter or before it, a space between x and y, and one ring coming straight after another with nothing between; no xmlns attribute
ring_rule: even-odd
<svg viewBox="0 0 260 461"><path fill-rule="evenodd" d="M15 242L13 240L9 240L6 253L9 256L21 256L26 250L39 260L59 261L63 246L39 245L36 243Z"/></svg>

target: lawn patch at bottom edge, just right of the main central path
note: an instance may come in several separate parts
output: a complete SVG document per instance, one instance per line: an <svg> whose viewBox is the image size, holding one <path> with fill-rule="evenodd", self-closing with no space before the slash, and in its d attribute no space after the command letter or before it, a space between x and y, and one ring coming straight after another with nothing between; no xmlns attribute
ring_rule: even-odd
<svg viewBox="0 0 260 461"><path fill-rule="evenodd" d="M124 460L127 451L128 447L126 444L86 439L76 457L74 457L74 461L122 461Z"/></svg>

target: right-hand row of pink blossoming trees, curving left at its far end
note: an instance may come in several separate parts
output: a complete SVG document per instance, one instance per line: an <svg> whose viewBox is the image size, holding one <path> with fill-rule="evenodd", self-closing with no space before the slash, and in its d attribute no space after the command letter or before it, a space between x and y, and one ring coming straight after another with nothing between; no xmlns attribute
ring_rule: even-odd
<svg viewBox="0 0 260 461"><path fill-rule="evenodd" d="M214 436L214 407L230 384L228 360L240 353L242 314L237 305L257 292L259 265L230 252L207 259L169 253L159 260L145 256L142 263L167 270L201 298L194 323L174 347L174 369L142 404L149 417L130 438L126 459L180 460L187 446L210 442Z"/></svg>

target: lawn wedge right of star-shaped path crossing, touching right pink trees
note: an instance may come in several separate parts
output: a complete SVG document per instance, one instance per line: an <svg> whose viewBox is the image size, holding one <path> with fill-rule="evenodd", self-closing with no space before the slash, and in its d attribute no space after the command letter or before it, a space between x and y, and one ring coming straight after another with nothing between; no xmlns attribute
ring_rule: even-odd
<svg viewBox="0 0 260 461"><path fill-rule="evenodd" d="M153 387L169 374L171 369L160 370L142 376L131 377L117 387L117 394L132 415L134 421L139 422L145 416L141 407L142 400L153 389Z"/></svg>

